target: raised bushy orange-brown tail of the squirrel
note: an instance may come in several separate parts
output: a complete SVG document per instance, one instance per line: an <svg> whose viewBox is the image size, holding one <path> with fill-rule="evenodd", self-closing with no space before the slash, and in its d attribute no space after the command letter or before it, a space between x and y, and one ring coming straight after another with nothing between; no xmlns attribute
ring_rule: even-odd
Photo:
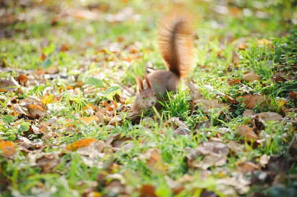
<svg viewBox="0 0 297 197"><path fill-rule="evenodd" d="M159 50L169 71L180 78L192 70L196 20L184 8L175 7L158 22Z"/></svg>

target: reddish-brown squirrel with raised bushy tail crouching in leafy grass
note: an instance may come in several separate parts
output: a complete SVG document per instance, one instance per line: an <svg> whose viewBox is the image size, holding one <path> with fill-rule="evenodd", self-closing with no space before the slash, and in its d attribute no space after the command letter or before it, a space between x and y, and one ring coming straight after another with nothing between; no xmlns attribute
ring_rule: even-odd
<svg viewBox="0 0 297 197"><path fill-rule="evenodd" d="M132 112L162 105L161 100L167 91L176 91L181 79L192 70L194 61L195 17L184 9L176 8L164 15L158 22L158 46L168 71L157 70L143 81L136 78L138 92L132 105Z"/></svg>

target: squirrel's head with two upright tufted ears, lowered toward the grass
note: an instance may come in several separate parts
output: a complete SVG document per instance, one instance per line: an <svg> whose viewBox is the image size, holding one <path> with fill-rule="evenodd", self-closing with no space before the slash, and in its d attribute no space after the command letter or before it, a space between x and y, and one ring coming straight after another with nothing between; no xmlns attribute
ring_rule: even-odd
<svg viewBox="0 0 297 197"><path fill-rule="evenodd" d="M157 98L155 92L151 89L148 76L145 76L145 86L141 77L137 77L136 81L138 84L138 93L132 106L132 111L135 112L141 109L152 108L152 106L156 104Z"/></svg>

